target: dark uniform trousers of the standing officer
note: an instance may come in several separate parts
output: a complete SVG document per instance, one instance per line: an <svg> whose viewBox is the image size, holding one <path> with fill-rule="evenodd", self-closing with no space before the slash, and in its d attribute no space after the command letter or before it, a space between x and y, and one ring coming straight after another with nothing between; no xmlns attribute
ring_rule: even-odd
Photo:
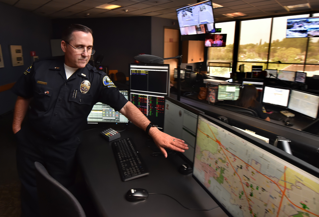
<svg viewBox="0 0 319 217"><path fill-rule="evenodd" d="M38 217L39 204L35 180L34 162L40 162L48 173L64 187L70 188L75 181L78 136L64 141L48 139L23 126L17 132L17 167L21 187L21 209L24 217Z"/></svg>

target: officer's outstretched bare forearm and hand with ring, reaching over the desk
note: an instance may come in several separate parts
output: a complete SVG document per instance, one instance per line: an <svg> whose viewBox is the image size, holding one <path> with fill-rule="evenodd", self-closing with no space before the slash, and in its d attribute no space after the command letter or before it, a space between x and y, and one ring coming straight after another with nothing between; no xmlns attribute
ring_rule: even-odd
<svg viewBox="0 0 319 217"><path fill-rule="evenodd" d="M145 117L145 115L131 102L127 102L119 112L144 131L150 124L150 121ZM167 157L167 153L164 148L169 148L178 152L184 152L184 149L188 149L182 139L178 139L161 132L156 127L151 127L148 134L153 138L156 146L159 147L165 157ZM173 141L173 139L175 141Z"/></svg>

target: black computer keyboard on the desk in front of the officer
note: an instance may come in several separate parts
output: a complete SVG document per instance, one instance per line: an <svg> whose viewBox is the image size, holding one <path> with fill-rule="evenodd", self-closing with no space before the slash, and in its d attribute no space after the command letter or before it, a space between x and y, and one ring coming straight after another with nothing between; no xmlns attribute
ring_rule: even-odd
<svg viewBox="0 0 319 217"><path fill-rule="evenodd" d="M112 143L116 163L122 181L128 181L150 174L143 159L130 139L121 139Z"/></svg>

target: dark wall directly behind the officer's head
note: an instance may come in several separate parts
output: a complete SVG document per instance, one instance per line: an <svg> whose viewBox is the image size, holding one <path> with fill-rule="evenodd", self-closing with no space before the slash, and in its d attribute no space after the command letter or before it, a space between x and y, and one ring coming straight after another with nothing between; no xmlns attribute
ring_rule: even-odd
<svg viewBox="0 0 319 217"><path fill-rule="evenodd" d="M93 31L94 58L103 54L103 64L129 76L129 64L139 53L151 52L151 17L106 17L52 20L53 38L61 38L63 28L82 24Z"/></svg>

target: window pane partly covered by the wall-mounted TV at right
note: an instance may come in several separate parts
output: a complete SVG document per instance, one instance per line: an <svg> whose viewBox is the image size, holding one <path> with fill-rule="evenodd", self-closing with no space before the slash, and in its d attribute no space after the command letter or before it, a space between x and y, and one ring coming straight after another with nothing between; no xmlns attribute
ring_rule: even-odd
<svg viewBox="0 0 319 217"><path fill-rule="evenodd" d="M305 62L307 38L286 38L287 19L302 17L309 14L273 18L269 62Z"/></svg>

